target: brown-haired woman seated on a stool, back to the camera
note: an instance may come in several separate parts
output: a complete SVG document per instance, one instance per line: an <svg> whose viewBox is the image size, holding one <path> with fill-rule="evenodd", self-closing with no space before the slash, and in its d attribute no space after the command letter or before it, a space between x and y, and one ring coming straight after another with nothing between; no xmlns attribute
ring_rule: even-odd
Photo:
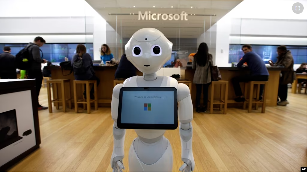
<svg viewBox="0 0 307 172"><path fill-rule="evenodd" d="M78 69L74 67L74 63L78 62L78 60L82 60L82 67L80 68L82 68L83 70L78 71ZM83 44L77 45L76 54L72 57L71 64L75 71L74 75L75 75L76 80L96 80L97 86L99 85L100 80L95 75L95 71L93 69L93 60L91 58L91 55L86 52L86 47ZM84 98L86 99L86 86L84 86L83 95L84 95ZM91 88L90 97L91 99L95 99L94 87Z"/></svg>

